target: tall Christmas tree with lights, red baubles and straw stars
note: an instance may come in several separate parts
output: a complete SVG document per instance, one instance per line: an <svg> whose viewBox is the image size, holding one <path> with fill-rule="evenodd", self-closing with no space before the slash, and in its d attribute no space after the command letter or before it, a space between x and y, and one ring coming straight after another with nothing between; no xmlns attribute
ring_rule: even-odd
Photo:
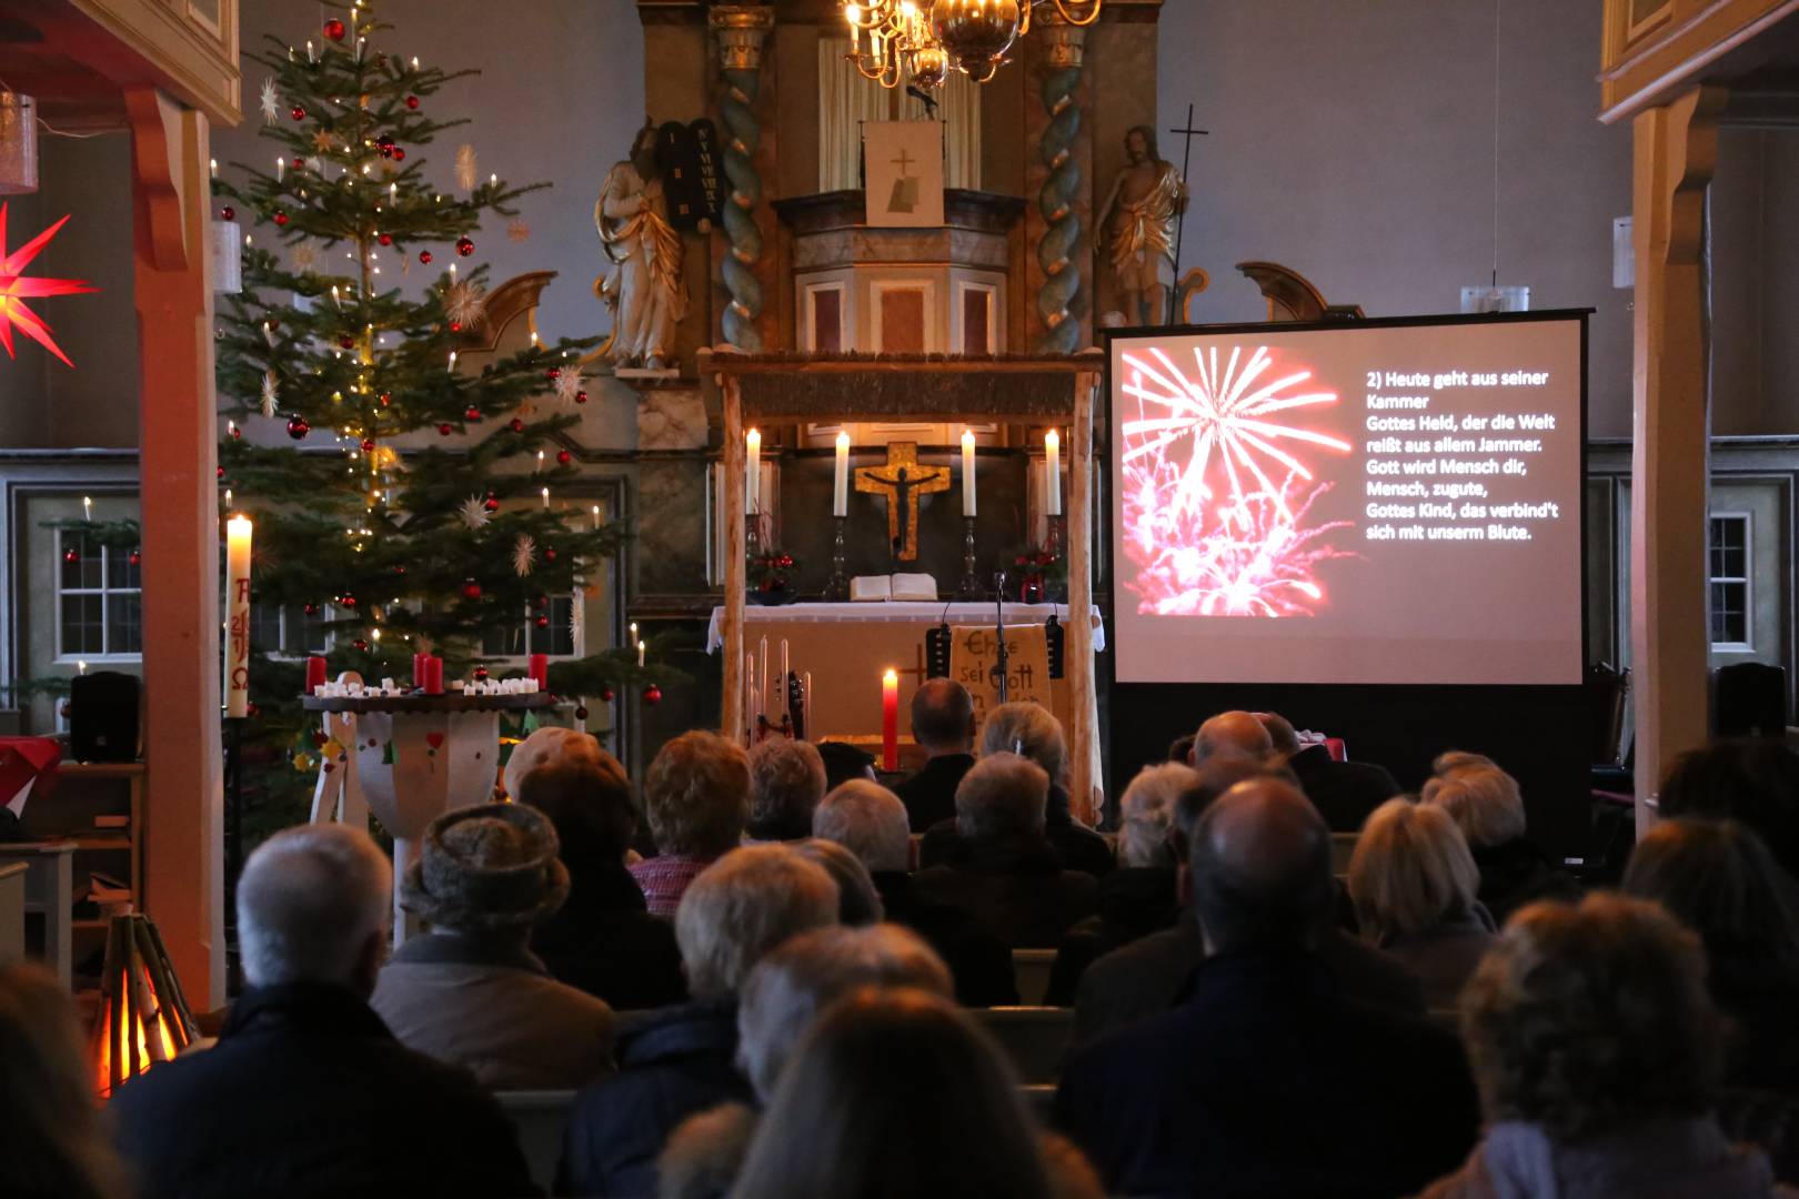
<svg viewBox="0 0 1799 1199"><path fill-rule="evenodd" d="M479 180L470 147L457 187L434 185L419 151L464 124L435 115L434 97L475 72L389 56L369 4L336 11L320 47L270 40L246 56L270 70L261 108L275 169L227 164L214 182L218 216L261 221L279 243L245 250L243 291L219 313L219 493L255 518L261 653L246 732L264 760L286 755L302 771L318 735L297 699L293 622L300 653L329 638L333 676L410 681L412 654L428 649L450 678L484 678L484 658L579 644L583 588L622 536L545 491L576 475L552 435L579 419L577 356L592 342L533 334L479 374L457 367L488 284L484 266L455 264L475 253L484 216L511 218L518 196L547 185ZM405 288L414 270L434 275L423 295ZM245 439L257 412L293 444ZM452 435L466 437L432 444ZM559 658L549 681L603 703L626 687L653 697L655 674L610 651Z"/></svg>

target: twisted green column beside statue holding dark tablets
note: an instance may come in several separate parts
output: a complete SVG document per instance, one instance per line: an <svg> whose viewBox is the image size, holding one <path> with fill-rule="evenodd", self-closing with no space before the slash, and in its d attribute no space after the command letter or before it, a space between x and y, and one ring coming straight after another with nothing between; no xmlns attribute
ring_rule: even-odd
<svg viewBox="0 0 1799 1199"><path fill-rule="evenodd" d="M741 351L763 349L756 329L763 315L763 280L756 264L763 257L763 230L756 225L756 209L763 201L763 180L756 173L756 147L761 144L761 126L756 120L756 97L763 86L763 40L774 29L774 9L763 5L718 5L709 22L718 38L720 67L725 75L725 95L718 104L725 124L723 167L730 194L725 196L721 223L729 243L723 261L725 342Z"/></svg>

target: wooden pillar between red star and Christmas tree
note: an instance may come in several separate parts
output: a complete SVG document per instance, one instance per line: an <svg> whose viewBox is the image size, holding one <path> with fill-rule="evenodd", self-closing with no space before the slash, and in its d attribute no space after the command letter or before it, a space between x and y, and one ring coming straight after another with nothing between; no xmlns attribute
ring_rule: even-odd
<svg viewBox="0 0 1799 1199"><path fill-rule="evenodd" d="M203 113L155 88L131 120L144 520L144 911L182 989L225 1001L218 403Z"/></svg>

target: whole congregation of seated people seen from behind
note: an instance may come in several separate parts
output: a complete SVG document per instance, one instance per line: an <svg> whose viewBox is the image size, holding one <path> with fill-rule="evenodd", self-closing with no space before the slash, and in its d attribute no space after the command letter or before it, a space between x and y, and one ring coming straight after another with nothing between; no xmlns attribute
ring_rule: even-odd
<svg viewBox="0 0 1799 1199"><path fill-rule="evenodd" d="M0 967L0 1195L1799 1195L1779 742L1677 760L1589 886L1472 751L1401 795L1213 714L1103 836L1045 708L910 717L892 787L707 732L633 787L538 730L425 832L392 949L376 841L277 832L218 1037L103 1107L68 996Z"/></svg>

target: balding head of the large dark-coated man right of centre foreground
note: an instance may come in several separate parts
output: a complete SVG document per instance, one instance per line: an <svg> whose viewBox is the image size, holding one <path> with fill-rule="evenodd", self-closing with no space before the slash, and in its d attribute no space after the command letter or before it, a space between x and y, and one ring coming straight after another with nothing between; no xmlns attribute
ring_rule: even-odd
<svg viewBox="0 0 1799 1199"><path fill-rule="evenodd" d="M1329 926L1331 830L1288 782L1249 778L1218 796L1189 868L1207 953L1315 949Z"/></svg>

